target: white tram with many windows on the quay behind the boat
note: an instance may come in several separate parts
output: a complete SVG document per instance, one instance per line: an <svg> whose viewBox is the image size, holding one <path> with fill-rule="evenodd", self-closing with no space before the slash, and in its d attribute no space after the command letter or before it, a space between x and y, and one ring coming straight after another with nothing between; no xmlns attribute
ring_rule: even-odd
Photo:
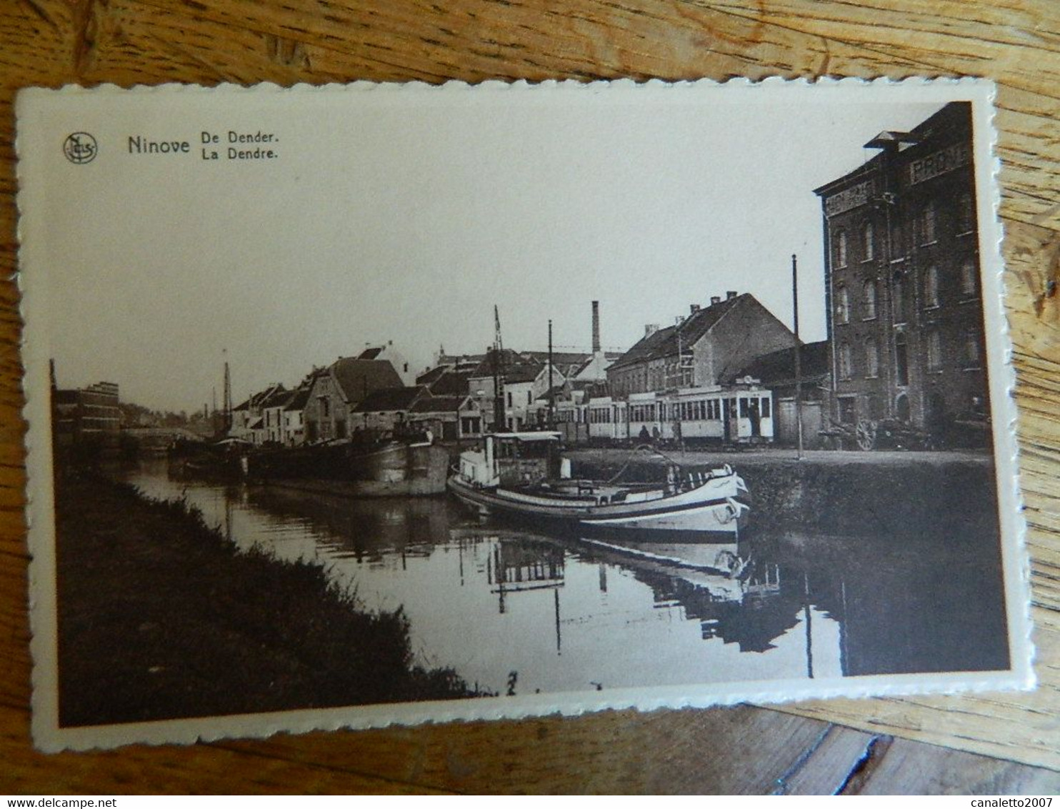
<svg viewBox="0 0 1060 809"><path fill-rule="evenodd" d="M594 443L772 443L773 393L754 385L632 393L628 400L590 399L572 418L588 424Z"/></svg>

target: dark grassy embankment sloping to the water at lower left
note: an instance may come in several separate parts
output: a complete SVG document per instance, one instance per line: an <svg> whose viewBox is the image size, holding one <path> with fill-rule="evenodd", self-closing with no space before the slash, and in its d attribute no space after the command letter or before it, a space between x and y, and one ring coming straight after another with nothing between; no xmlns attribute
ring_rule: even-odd
<svg viewBox="0 0 1060 809"><path fill-rule="evenodd" d="M414 664L400 609L366 613L319 566L120 483L56 500L63 725L473 696Z"/></svg>

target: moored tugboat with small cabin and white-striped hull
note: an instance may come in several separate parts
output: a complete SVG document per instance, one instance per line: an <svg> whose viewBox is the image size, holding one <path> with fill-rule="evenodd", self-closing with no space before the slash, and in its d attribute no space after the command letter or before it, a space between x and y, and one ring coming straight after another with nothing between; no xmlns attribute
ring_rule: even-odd
<svg viewBox="0 0 1060 809"><path fill-rule="evenodd" d="M728 464L666 483L572 479L560 433L495 433L460 454L448 489L483 514L551 523L582 533L637 532L670 542L732 542L747 525L749 496Z"/></svg>

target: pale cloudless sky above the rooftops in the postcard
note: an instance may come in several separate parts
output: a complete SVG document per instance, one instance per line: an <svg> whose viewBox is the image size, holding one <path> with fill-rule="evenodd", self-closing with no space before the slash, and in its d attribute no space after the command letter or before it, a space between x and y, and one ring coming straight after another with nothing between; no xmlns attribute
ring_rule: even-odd
<svg viewBox="0 0 1060 809"><path fill-rule="evenodd" d="M494 304L517 350L546 348L551 319L558 350L587 351L593 300L615 349L730 289L791 326L792 253L802 337L823 339L813 189L941 106L666 88L290 102L74 98L33 124L100 143L72 165L42 138L23 175L40 171L22 236L61 387L193 410L219 402L226 359L238 402L386 340L419 370L440 346L482 352ZM202 133L227 150L229 130L279 156L202 160ZM134 136L190 154L130 154Z"/></svg>

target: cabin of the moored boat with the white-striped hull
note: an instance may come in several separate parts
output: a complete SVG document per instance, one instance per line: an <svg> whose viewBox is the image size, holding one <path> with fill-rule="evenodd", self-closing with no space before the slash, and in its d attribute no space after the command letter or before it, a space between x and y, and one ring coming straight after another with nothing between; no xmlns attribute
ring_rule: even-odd
<svg viewBox="0 0 1060 809"><path fill-rule="evenodd" d="M570 476L562 450L562 434L492 433L482 446L460 454L460 476L473 486L532 486Z"/></svg>

